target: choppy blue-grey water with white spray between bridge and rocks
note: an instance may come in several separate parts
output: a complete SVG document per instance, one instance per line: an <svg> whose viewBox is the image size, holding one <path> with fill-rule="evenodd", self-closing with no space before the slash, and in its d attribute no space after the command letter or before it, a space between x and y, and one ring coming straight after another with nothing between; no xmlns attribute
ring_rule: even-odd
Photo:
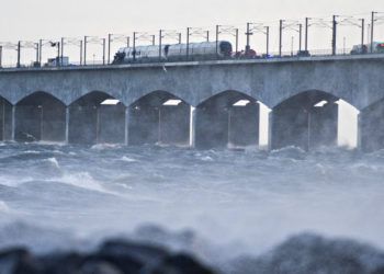
<svg viewBox="0 0 384 274"><path fill-rule="evenodd" d="M84 249L149 225L214 264L303 231L384 249L384 151L1 144L0 216L0 249Z"/></svg>

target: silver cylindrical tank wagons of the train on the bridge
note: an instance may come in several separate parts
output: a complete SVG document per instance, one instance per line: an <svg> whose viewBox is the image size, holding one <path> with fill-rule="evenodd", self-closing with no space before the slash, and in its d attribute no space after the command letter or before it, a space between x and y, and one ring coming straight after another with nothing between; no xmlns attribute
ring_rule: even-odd
<svg viewBox="0 0 384 274"><path fill-rule="evenodd" d="M217 53L216 53L217 47ZM228 41L202 42L190 44L173 44L173 45L150 45L123 47L115 54L114 65L129 64L134 61L151 61L159 60L161 50L161 60L182 60L189 56L193 60L206 60L217 58L230 58L233 56L233 46Z"/></svg>

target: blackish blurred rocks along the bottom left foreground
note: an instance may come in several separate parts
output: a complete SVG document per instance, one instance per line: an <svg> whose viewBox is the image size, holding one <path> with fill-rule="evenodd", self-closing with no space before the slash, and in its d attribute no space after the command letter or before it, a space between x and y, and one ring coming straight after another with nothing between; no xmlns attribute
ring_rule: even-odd
<svg viewBox="0 0 384 274"><path fill-rule="evenodd" d="M26 249L0 252L1 274L213 274L191 255L124 240L92 253L34 255Z"/></svg>

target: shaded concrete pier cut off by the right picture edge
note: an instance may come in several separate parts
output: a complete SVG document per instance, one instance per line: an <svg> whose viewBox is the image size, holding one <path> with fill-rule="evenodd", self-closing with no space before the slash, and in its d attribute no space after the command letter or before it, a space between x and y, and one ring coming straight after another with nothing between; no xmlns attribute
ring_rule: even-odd
<svg viewBox="0 0 384 274"><path fill-rule="evenodd" d="M384 149L384 102L380 101L359 114L359 148L365 152Z"/></svg>

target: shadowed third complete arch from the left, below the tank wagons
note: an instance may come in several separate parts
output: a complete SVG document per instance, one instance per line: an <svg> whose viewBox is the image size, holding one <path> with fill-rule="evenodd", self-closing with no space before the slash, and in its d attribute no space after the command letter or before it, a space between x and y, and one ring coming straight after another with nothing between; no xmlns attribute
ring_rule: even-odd
<svg viewBox="0 0 384 274"><path fill-rule="evenodd" d="M191 105L168 91L153 91L129 105L129 145L190 145Z"/></svg>

